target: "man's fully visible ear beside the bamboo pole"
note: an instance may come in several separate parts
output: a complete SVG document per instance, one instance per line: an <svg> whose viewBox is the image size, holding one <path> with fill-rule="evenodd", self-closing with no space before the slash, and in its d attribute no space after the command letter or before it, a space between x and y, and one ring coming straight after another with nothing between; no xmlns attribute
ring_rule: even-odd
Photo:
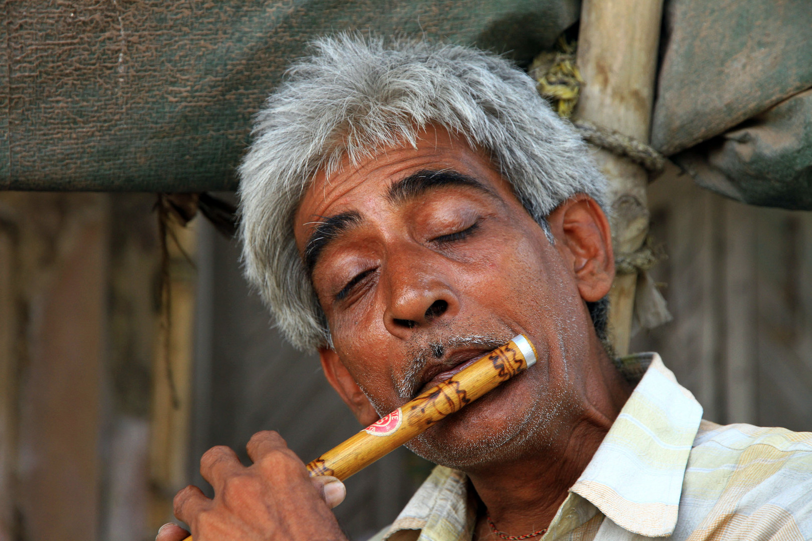
<svg viewBox="0 0 812 541"><path fill-rule="evenodd" d="M578 194L555 208L547 219L581 298L589 303L603 298L615 278L606 214L589 195Z"/></svg>

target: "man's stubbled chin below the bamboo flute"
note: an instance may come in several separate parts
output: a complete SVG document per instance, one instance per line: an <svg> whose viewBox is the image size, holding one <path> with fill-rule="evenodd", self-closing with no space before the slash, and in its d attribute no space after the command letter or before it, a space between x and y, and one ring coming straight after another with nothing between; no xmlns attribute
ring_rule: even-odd
<svg viewBox="0 0 812 541"><path fill-rule="evenodd" d="M506 384L491 391L406 446L430 462L455 470L512 462L550 447L553 427L563 413L564 397L552 399L546 389L533 389L536 385L526 383Z"/></svg>

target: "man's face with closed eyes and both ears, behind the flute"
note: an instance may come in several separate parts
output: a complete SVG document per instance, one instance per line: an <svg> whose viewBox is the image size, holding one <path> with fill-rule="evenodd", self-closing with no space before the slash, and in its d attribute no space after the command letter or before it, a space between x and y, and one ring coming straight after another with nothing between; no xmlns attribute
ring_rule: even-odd
<svg viewBox="0 0 812 541"><path fill-rule="evenodd" d="M598 354L584 301L607 293L611 248L589 198L563 204L551 226L555 246L489 159L442 129L417 148L317 176L296 213L296 242L335 346L321 352L326 375L362 423L377 419L367 398L388 413L525 333L537 365L412 449L473 467L572 427Z"/></svg>

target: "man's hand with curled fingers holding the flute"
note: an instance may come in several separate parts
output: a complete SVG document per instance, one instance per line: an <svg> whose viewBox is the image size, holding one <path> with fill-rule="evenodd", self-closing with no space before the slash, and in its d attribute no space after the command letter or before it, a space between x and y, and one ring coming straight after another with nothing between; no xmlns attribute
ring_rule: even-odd
<svg viewBox="0 0 812 541"><path fill-rule="evenodd" d="M254 434L248 457L253 465L246 468L231 449L209 449L201 474L214 487L214 500L191 485L175 496L175 517L191 526L194 541L346 540L330 511L344 499L343 483L311 479L276 432ZM182 541L188 535L172 524L155 539Z"/></svg>

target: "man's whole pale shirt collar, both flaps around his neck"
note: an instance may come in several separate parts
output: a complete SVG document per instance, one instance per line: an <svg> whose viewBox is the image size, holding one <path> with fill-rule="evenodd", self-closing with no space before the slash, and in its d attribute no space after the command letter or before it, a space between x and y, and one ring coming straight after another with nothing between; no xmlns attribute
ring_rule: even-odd
<svg viewBox="0 0 812 541"><path fill-rule="evenodd" d="M628 380L642 378L570 492L625 530L649 537L671 535L702 406L658 354L629 355L617 363ZM558 520L556 515L551 530ZM437 466L384 539L422 530L414 531L413 539L419 534L421 539L462 541L471 539L475 524L467 476Z"/></svg>

